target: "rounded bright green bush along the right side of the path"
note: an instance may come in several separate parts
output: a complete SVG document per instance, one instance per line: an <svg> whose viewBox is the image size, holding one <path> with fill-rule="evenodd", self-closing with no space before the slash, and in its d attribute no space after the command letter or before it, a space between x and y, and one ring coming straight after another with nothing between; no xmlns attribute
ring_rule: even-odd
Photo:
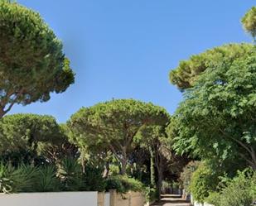
<svg viewBox="0 0 256 206"><path fill-rule="evenodd" d="M218 176L213 174L213 170L207 165L200 165L192 175L191 194L197 202L204 203L205 198L209 196L210 191L216 189L218 183Z"/></svg>

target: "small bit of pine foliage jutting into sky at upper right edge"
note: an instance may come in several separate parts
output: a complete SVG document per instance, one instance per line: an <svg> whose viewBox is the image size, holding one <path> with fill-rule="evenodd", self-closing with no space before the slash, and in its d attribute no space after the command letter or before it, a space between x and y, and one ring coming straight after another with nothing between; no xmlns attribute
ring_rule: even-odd
<svg viewBox="0 0 256 206"><path fill-rule="evenodd" d="M242 18L244 30L256 36L256 7L252 7Z"/></svg>

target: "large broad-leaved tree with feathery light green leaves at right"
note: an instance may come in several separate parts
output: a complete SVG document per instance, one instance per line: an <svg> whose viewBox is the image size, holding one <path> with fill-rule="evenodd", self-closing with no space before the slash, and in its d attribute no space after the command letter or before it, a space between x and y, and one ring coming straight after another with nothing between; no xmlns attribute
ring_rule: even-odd
<svg viewBox="0 0 256 206"><path fill-rule="evenodd" d="M256 50L220 60L185 93L170 134L176 151L205 159L245 160L256 170Z"/></svg>

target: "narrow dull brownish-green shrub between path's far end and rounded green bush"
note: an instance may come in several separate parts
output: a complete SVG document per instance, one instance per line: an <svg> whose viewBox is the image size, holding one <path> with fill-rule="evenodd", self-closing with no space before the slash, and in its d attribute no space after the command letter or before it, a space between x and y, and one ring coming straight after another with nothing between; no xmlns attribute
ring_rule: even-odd
<svg viewBox="0 0 256 206"><path fill-rule="evenodd" d="M187 193L190 192L190 184L191 184L191 178L193 173L198 168L200 162L199 161L191 161L189 164L184 167L183 171L181 172L181 184L183 189L186 190Z"/></svg>

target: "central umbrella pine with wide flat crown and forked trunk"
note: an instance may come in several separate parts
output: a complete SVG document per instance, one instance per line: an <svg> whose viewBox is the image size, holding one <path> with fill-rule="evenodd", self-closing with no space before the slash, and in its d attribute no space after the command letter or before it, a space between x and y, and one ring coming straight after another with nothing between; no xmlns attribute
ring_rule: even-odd
<svg viewBox="0 0 256 206"><path fill-rule="evenodd" d="M141 127L164 125L168 118L165 109L152 103L118 99L81 108L70 118L68 126L75 133L71 139L77 146L85 150L99 146L111 151L125 174L133 139Z"/></svg>

